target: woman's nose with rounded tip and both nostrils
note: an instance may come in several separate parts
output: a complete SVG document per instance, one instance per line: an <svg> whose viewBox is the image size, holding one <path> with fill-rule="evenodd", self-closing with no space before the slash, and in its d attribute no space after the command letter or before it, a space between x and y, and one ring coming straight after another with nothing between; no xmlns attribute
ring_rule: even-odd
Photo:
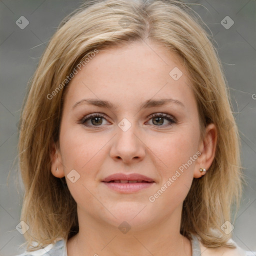
<svg viewBox="0 0 256 256"><path fill-rule="evenodd" d="M110 149L110 157L115 161L122 160L124 163L141 161L145 157L145 141L138 129L131 125L126 131L116 127L117 134L114 136Z"/></svg>

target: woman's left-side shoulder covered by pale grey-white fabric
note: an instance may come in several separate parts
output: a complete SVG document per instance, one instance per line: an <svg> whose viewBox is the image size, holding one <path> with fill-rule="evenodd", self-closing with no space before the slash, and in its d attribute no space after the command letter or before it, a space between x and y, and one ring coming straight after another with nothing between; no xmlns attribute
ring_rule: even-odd
<svg viewBox="0 0 256 256"><path fill-rule="evenodd" d="M67 256L66 253L66 242L64 239L58 240L55 243L48 244L42 249L34 251L25 251L16 256L48 256L48 255L58 255Z"/></svg>

